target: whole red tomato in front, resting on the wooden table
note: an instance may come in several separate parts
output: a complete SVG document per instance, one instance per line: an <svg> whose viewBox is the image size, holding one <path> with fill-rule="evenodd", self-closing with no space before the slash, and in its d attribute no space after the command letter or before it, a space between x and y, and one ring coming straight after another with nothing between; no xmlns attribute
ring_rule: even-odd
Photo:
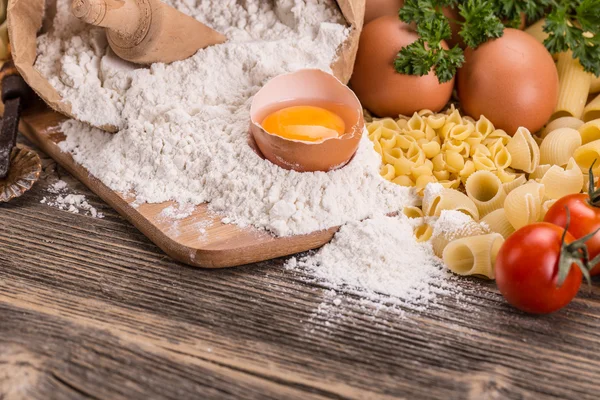
<svg viewBox="0 0 600 400"><path fill-rule="evenodd" d="M511 305L533 314L548 314L571 302L581 286L576 264L558 286L558 261L564 229L540 222L524 226L502 245L496 259L496 284ZM565 244L575 239L567 232Z"/></svg>

